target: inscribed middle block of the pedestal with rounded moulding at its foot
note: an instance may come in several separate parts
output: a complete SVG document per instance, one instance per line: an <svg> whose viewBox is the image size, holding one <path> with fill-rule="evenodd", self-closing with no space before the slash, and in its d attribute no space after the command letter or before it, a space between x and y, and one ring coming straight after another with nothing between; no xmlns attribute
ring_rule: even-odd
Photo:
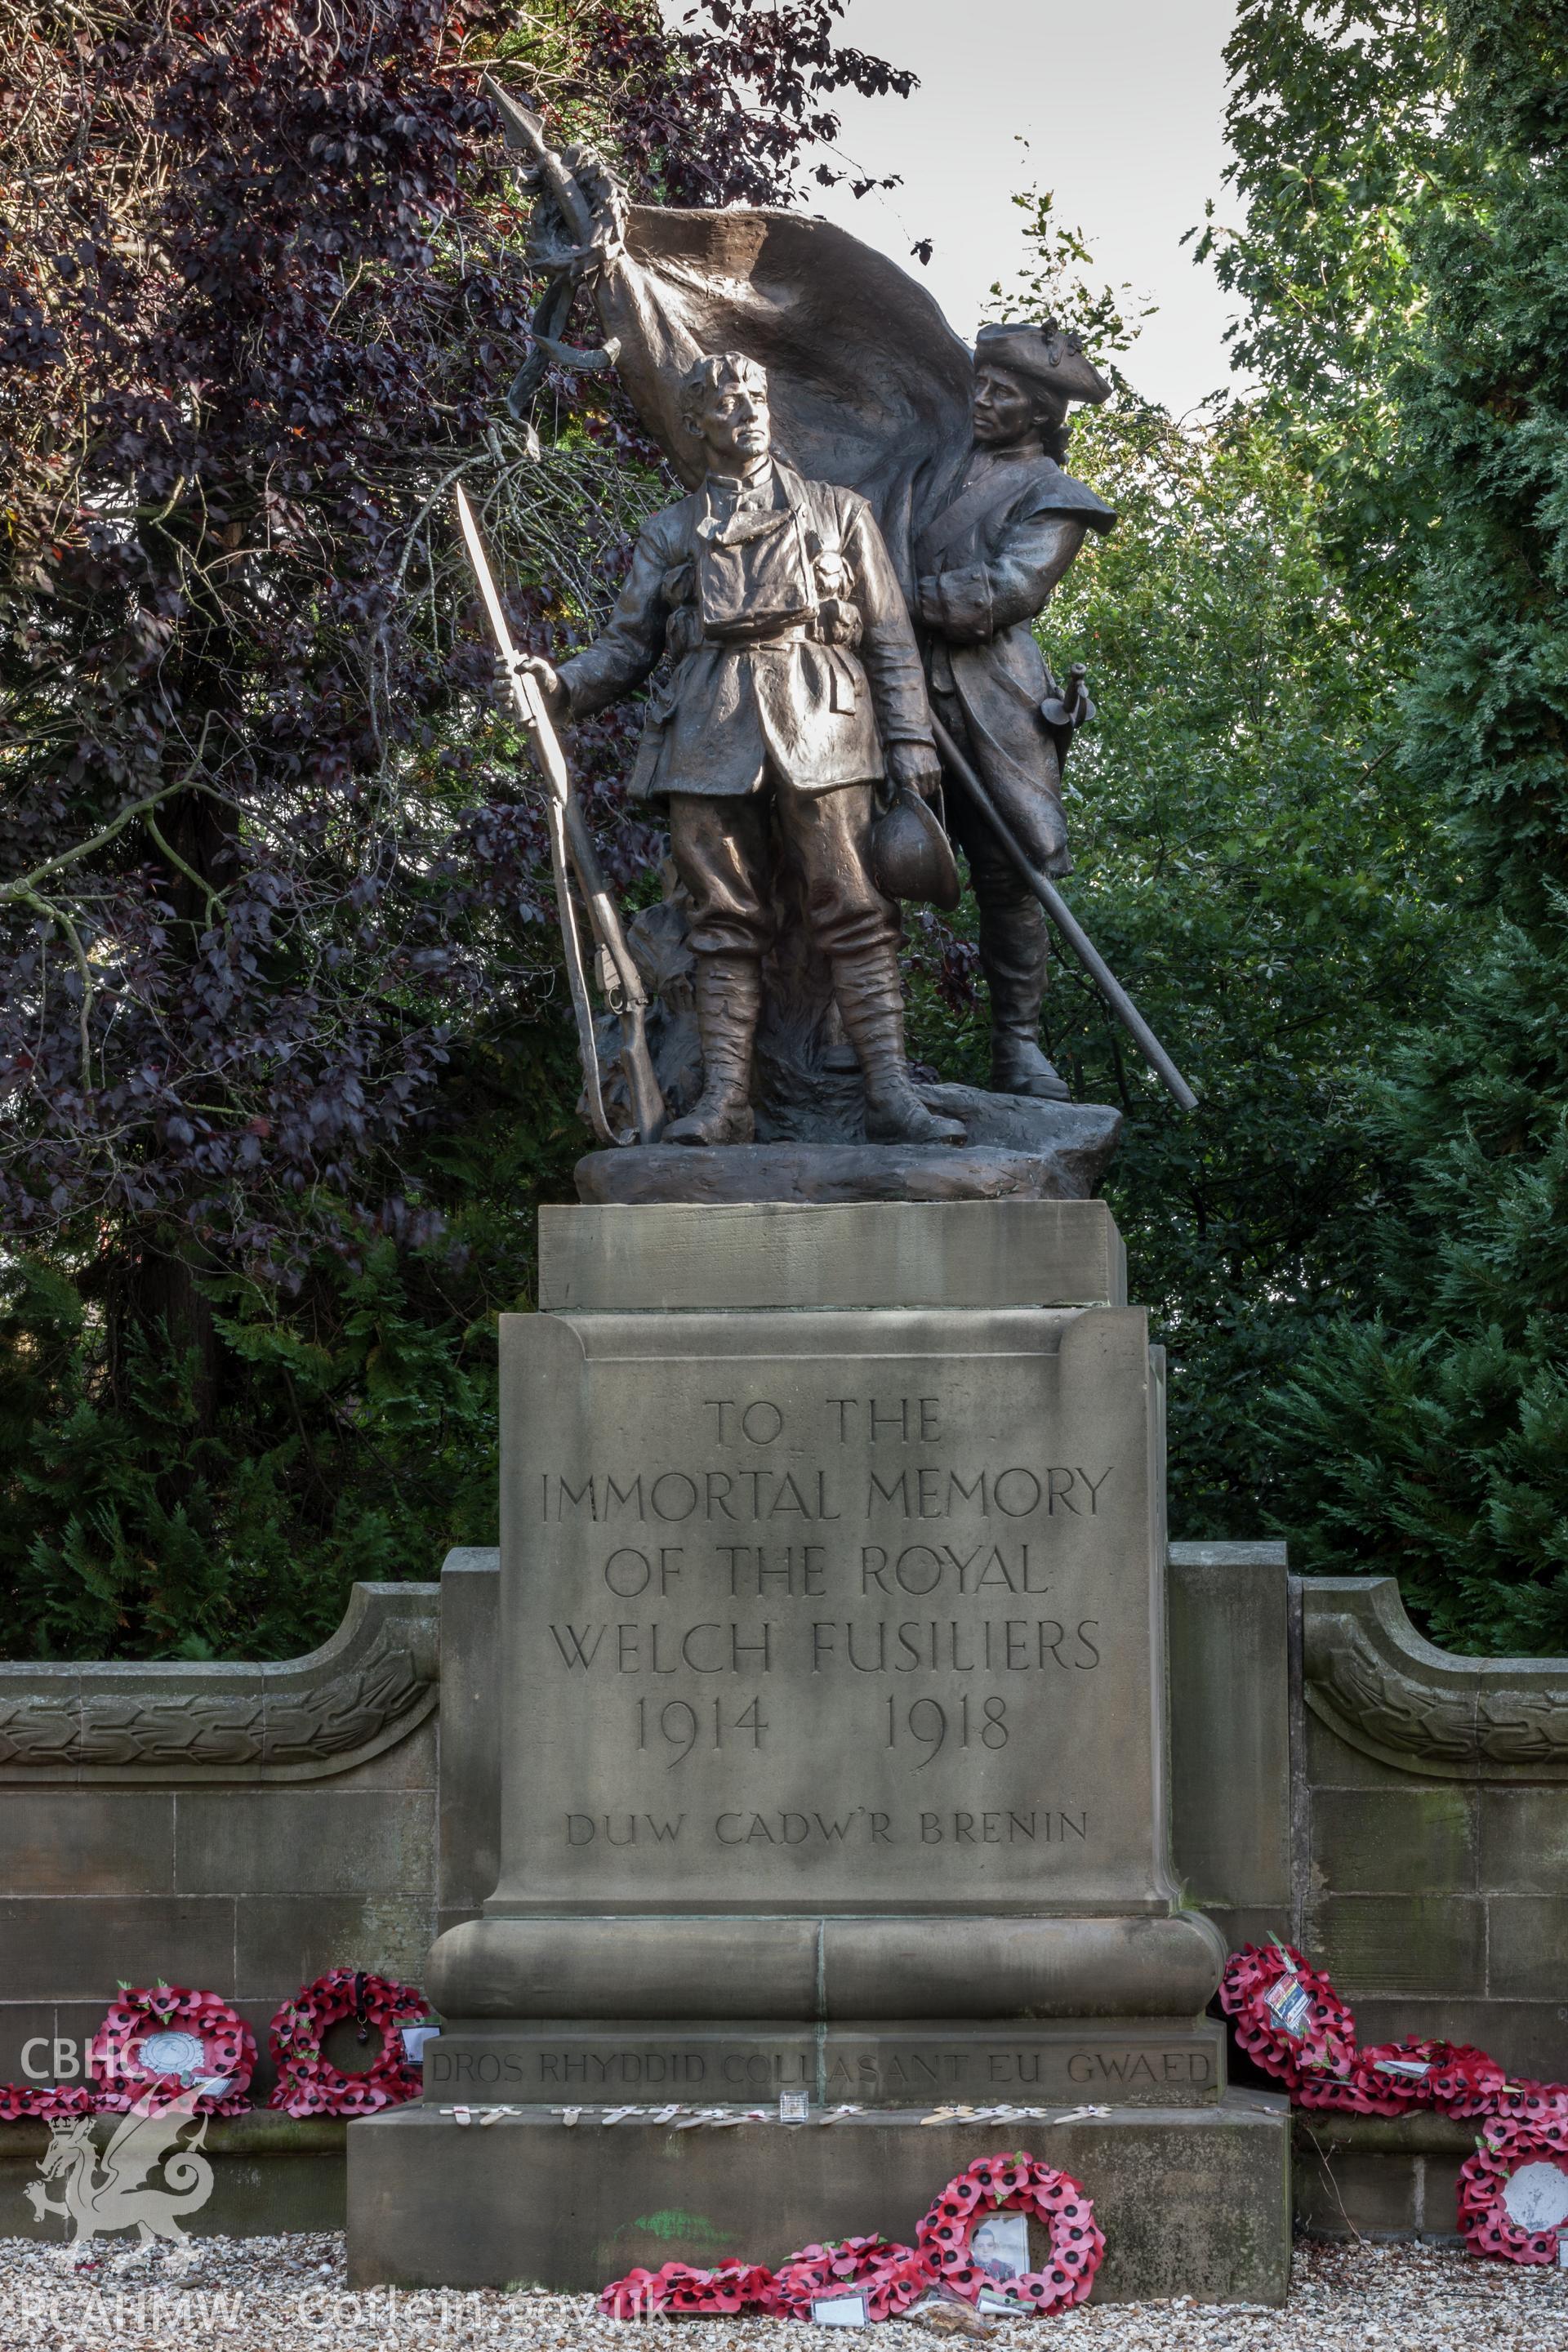
<svg viewBox="0 0 1568 2352"><path fill-rule="evenodd" d="M449 2016L1204 2009L1143 1310L510 1317L503 1411L515 1736Z"/></svg>

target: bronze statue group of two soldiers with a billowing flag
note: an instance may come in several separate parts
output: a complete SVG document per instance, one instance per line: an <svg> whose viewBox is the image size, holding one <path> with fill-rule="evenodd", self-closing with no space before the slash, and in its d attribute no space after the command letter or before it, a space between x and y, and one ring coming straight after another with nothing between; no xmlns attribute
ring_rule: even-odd
<svg viewBox="0 0 1568 2352"><path fill-rule="evenodd" d="M585 358L614 358L689 485L644 524L592 644L559 666L503 647L548 734L656 680L630 790L670 828L703 1080L684 1117L642 1120L639 1138L658 1124L665 1143L752 1141L790 908L860 1070L865 1138L964 1143L910 1080L898 969L898 901L952 906L952 847L978 908L992 1089L1067 1098L1039 1044L1051 908L1190 1108L1056 894L1072 870L1063 762L1091 706L1081 670L1056 684L1034 621L1086 534L1117 520L1063 466L1072 402L1110 397L1077 336L990 325L971 353L844 230L628 207L597 158L557 155L534 115L491 96L529 158L550 270L541 350L571 355L555 336L585 285L604 327ZM538 374L536 355L515 402ZM623 962L614 917L602 943ZM639 1021L635 985L628 1009Z"/></svg>

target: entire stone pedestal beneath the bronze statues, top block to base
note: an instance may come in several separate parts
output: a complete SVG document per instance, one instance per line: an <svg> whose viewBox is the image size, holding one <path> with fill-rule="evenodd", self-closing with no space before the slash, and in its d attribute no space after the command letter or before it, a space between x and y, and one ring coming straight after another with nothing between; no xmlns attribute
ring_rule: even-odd
<svg viewBox="0 0 1568 2352"><path fill-rule="evenodd" d="M425 1973L425 2110L531 2103L484 2131L529 2187L498 2173L480 2272L442 2270L414 2180L435 2138L468 2164L463 2126L355 2131L374 2274L602 2284L639 2253L576 2201L588 2145L632 2216L712 2218L705 2169L733 2176L750 2258L907 2234L961 2161L931 2105L1081 2100L1119 2117L1112 2197L1201 2136L1182 2178L1218 2199L1218 2267L1159 2286L1150 2256L1143 2293L1232 2291L1215 2150L1251 2150L1276 2227L1234 2291L1262 2296L1286 2133L1225 2103L1225 1955L1171 1872L1161 1359L1103 1204L550 1211L541 1298L501 1331L498 1884ZM536 2112L780 2089L877 2136L724 2131L708 2157L703 2131ZM839 2192L856 2161L898 2211ZM701 2187L665 2197L661 2166Z"/></svg>

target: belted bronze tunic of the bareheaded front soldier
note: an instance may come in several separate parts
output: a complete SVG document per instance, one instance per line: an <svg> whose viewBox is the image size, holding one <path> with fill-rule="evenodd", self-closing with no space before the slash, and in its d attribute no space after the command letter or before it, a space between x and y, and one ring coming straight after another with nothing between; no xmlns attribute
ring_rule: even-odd
<svg viewBox="0 0 1568 2352"><path fill-rule="evenodd" d="M562 661L574 717L672 659L632 795L804 793L884 774L882 743L931 743L931 708L882 532L853 489L773 463L741 501L703 487L644 524L602 637Z"/></svg>

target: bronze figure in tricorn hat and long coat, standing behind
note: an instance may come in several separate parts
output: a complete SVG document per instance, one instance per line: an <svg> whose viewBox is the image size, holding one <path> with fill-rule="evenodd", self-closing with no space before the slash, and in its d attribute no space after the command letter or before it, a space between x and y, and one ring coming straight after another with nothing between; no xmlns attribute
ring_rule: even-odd
<svg viewBox="0 0 1568 2352"><path fill-rule="evenodd" d="M1084 708L1058 699L1030 623L1084 534L1107 532L1117 520L1093 489L1060 468L1067 402L1107 397L1110 386L1077 336L1051 322L980 327L976 454L947 508L914 543L914 612L929 647L933 708L1044 875L1072 873L1063 757ZM947 823L969 856L980 910L992 1087L1065 1098L1065 1084L1039 1051L1044 910L957 781L947 790Z"/></svg>

